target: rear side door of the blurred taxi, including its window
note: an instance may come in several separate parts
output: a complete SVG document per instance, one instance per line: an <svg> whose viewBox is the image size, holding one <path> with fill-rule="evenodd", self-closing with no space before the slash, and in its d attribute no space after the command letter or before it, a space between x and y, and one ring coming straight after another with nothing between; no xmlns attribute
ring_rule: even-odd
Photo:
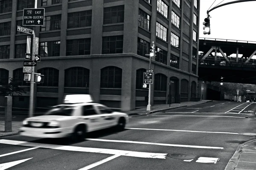
<svg viewBox="0 0 256 170"><path fill-rule="evenodd" d="M97 104L96 107L99 110L99 113L101 117L104 119L104 126L105 127L111 127L116 124L116 116L114 116L108 107L102 105L102 104Z"/></svg>

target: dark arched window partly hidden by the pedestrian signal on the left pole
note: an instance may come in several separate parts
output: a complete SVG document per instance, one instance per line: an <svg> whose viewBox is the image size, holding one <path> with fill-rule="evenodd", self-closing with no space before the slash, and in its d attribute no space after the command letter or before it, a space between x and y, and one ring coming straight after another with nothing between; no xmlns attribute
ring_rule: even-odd
<svg viewBox="0 0 256 170"><path fill-rule="evenodd" d="M58 87L58 69L46 67L39 69L38 73L44 75L44 83L38 84L38 86Z"/></svg>

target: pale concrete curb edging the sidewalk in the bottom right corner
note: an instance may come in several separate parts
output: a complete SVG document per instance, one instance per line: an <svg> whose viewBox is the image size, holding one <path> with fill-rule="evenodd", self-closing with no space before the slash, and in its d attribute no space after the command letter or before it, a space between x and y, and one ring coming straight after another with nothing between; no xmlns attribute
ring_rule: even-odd
<svg viewBox="0 0 256 170"><path fill-rule="evenodd" d="M244 145L246 145L248 143L251 143L253 141L256 141L256 139L252 139L250 141L244 142L243 144L239 144L239 146L236 148L236 152L234 153L232 158L227 163L227 166L226 166L225 170L235 170L236 165L238 164L238 160L241 156Z"/></svg>

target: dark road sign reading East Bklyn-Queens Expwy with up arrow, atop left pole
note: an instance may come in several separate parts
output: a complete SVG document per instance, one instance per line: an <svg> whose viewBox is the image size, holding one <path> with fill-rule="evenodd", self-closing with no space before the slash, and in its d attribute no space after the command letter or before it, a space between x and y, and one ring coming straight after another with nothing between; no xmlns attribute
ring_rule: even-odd
<svg viewBox="0 0 256 170"><path fill-rule="evenodd" d="M23 26L43 26L44 8L23 9Z"/></svg>

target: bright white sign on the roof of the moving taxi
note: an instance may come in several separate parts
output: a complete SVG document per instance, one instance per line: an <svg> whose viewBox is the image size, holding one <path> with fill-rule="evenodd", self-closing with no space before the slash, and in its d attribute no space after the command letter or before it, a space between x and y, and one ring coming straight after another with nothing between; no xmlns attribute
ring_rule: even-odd
<svg viewBox="0 0 256 170"><path fill-rule="evenodd" d="M89 103L93 102L91 95L66 95L63 103Z"/></svg>

